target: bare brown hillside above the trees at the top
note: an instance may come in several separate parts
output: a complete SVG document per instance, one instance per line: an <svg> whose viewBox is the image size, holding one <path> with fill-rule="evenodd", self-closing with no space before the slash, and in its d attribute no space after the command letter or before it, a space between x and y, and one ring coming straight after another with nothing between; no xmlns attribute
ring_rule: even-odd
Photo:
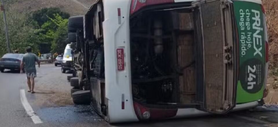
<svg viewBox="0 0 278 127"><path fill-rule="evenodd" d="M16 0L11 8L18 12L32 12L41 8L57 7L71 16L85 14L95 0Z"/></svg>

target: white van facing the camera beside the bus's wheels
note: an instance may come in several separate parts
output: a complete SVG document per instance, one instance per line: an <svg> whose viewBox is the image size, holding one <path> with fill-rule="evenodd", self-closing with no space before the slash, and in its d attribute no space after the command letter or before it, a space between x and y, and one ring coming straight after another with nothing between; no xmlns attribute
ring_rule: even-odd
<svg viewBox="0 0 278 127"><path fill-rule="evenodd" d="M63 55L63 62L62 62L62 73L65 73L67 70L72 69L72 49L70 48L70 44L67 44L64 55Z"/></svg>

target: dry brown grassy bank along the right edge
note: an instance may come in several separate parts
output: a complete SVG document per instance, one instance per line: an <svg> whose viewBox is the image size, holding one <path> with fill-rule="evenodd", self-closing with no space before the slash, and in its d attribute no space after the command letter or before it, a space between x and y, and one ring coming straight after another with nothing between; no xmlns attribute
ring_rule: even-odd
<svg viewBox="0 0 278 127"><path fill-rule="evenodd" d="M267 80L268 95L266 104L278 104L278 1L262 0L266 11L269 39L269 74Z"/></svg>

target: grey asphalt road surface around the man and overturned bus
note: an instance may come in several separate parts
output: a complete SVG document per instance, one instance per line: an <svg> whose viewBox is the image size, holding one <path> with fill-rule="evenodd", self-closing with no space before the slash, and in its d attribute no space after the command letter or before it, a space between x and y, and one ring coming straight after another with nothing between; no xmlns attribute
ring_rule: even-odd
<svg viewBox="0 0 278 127"><path fill-rule="evenodd" d="M35 94L27 93L26 76L16 72L0 73L0 127L274 127L278 113L241 111L187 119L171 119L127 124L108 124L90 106L74 105L70 97L69 74L61 67L42 65L37 70ZM20 90L43 123L34 124L21 103Z"/></svg>

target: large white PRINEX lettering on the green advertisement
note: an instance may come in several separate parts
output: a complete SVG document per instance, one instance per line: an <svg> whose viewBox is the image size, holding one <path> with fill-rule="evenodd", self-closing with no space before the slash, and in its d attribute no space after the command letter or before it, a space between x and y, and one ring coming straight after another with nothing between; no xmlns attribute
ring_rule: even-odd
<svg viewBox="0 0 278 127"><path fill-rule="evenodd" d="M263 28L261 27L261 16L260 16L260 12L257 10L252 10L253 13L255 13L255 17L252 17L253 20L255 20L255 22L253 23L253 29L257 30L254 34L253 34L253 43L254 43L254 49L255 49L255 53L254 56L256 55L260 55L261 57L263 56L261 53L262 50L262 40L261 40L261 35L260 33L263 32Z"/></svg>

